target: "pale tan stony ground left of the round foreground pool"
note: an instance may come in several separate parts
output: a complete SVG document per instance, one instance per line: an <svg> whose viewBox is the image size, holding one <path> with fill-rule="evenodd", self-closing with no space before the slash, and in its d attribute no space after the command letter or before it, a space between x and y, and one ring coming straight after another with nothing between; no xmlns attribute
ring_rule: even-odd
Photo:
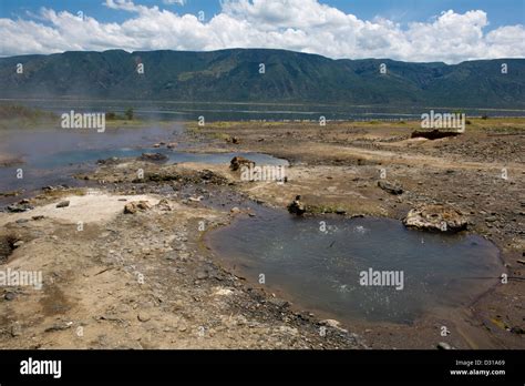
<svg viewBox="0 0 525 386"><path fill-rule="evenodd" d="M0 347L367 347L214 262L202 236L235 210L205 209L173 189L104 191L48 190L34 210L0 216L2 270L43 277L42 288L3 286Z"/></svg>

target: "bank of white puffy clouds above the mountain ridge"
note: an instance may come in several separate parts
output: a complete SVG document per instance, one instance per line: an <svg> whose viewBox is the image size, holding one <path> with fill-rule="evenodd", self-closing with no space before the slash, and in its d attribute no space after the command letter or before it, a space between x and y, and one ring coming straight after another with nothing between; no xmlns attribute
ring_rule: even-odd
<svg viewBox="0 0 525 386"><path fill-rule="evenodd" d="M184 4L184 0L164 0ZM361 20L318 0L224 0L208 21L132 0L105 0L128 13L122 23L41 9L38 18L0 18L0 55L66 50L218 50L279 48L329 58L391 58L456 63L472 59L524 58L525 27L486 31L482 10L447 10L432 20L401 26Z"/></svg>

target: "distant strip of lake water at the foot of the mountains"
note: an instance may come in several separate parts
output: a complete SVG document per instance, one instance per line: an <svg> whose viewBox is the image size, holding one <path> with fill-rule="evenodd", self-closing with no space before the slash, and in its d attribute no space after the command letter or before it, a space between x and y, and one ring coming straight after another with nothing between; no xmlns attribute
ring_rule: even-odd
<svg viewBox="0 0 525 386"><path fill-rule="evenodd" d="M53 111L58 114L76 112L107 112L122 114L133 108L135 114L145 119L162 121L249 121L249 120L421 120L422 113L431 109L451 112L439 106L381 106L347 104L300 104L300 103L197 103L175 101L117 101L117 100L0 100L0 103L14 103ZM525 110L512 109L462 109L467 116L525 116Z"/></svg>

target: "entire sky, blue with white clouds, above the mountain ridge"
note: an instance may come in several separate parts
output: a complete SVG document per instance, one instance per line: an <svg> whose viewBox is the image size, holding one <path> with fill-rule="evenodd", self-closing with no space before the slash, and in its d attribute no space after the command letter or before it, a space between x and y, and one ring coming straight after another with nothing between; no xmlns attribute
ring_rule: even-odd
<svg viewBox="0 0 525 386"><path fill-rule="evenodd" d="M525 58L525 0L0 0L0 57L227 48L447 63Z"/></svg>

